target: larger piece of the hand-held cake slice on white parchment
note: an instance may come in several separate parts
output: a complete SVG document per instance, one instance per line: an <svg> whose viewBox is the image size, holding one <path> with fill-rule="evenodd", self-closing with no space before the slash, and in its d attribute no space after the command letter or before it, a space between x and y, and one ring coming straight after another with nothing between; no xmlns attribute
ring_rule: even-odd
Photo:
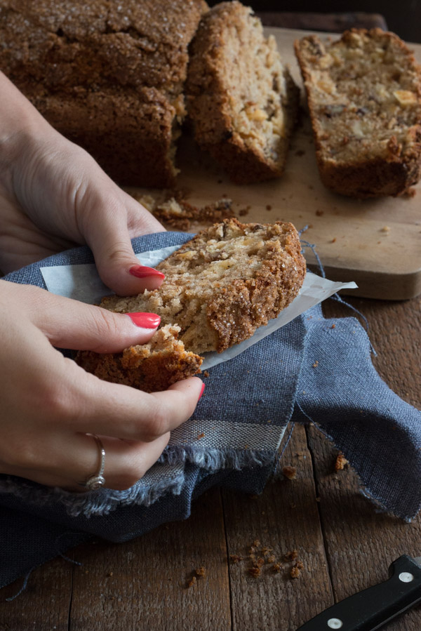
<svg viewBox="0 0 421 631"><path fill-rule="evenodd" d="M115 312L149 311L178 324L180 339L196 353L222 351L253 335L297 295L305 261L293 225L245 224L228 219L200 232L157 266L158 290L110 296Z"/></svg>

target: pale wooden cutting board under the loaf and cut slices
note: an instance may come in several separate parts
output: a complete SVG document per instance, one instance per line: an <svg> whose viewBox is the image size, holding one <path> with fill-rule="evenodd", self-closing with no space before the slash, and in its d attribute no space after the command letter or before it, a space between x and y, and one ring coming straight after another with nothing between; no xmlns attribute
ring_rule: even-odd
<svg viewBox="0 0 421 631"><path fill-rule="evenodd" d="M307 31L267 28L276 36L279 50L302 88L293 42ZM323 34L324 36L324 34ZM338 35L333 34L333 38ZM413 44L421 63L421 45ZM179 186L192 204L206 204L224 195L233 200L236 214L245 222L291 221L307 231L302 239L315 244L326 276L355 281L353 295L403 300L421 293L421 185L414 197L356 200L330 192L319 180L312 131L306 113L293 137L286 171L279 180L237 186L194 147L188 138L178 152ZM201 227L192 224L192 232ZM305 252L310 267L312 251Z"/></svg>

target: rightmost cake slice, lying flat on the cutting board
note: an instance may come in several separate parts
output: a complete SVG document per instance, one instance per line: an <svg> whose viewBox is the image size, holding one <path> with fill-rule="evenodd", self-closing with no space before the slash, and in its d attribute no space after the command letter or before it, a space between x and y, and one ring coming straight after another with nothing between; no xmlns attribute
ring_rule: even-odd
<svg viewBox="0 0 421 631"><path fill-rule="evenodd" d="M326 187L399 195L420 179L421 71L393 33L352 29L333 43L295 42L316 158Z"/></svg>

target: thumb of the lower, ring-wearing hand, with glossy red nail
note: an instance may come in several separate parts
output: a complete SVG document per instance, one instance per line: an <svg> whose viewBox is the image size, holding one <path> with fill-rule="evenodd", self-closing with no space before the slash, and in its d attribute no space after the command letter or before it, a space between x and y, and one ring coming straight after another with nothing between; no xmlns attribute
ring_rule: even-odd
<svg viewBox="0 0 421 631"><path fill-rule="evenodd" d="M39 291L31 319L55 347L119 352L147 343L161 321L154 313L113 313Z"/></svg>

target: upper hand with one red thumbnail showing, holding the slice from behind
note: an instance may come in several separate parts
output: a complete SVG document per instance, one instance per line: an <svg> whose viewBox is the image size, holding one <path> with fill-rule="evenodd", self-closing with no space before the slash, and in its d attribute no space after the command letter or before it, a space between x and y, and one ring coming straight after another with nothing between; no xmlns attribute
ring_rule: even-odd
<svg viewBox="0 0 421 631"><path fill-rule="evenodd" d="M0 72L0 270L88 244L100 277L120 295L157 288L131 238L163 230L81 147L55 131Z"/></svg>

